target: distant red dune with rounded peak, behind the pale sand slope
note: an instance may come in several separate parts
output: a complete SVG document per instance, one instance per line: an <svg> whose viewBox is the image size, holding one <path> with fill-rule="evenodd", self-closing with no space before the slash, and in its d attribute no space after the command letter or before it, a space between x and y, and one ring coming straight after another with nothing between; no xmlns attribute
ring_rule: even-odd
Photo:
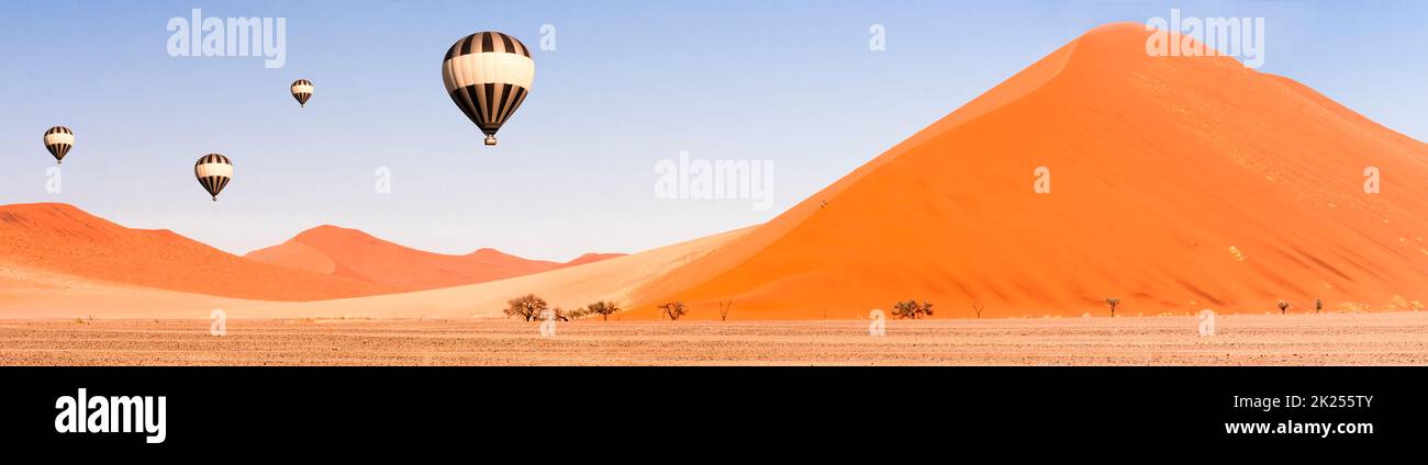
<svg viewBox="0 0 1428 465"><path fill-rule="evenodd" d="M564 264L526 260L494 248L481 248L467 255L444 255L383 241L357 230L320 225L303 231L287 242L256 250L244 257L403 291L418 291L504 280L620 255L584 254Z"/></svg>

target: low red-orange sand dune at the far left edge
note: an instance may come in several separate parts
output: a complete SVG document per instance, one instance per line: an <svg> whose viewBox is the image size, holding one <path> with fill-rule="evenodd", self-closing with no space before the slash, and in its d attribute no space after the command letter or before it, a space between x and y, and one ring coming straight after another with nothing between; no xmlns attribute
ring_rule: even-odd
<svg viewBox="0 0 1428 465"><path fill-rule="evenodd" d="M277 301L396 291L256 262L167 230L126 228L66 204L0 205L0 268Z"/></svg>

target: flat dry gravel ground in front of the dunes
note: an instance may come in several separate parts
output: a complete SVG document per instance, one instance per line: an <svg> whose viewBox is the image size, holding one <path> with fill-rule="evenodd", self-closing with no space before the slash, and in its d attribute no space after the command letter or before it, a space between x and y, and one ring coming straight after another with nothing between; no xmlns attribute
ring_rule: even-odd
<svg viewBox="0 0 1428 465"><path fill-rule="evenodd" d="M888 321L0 320L3 365L1428 365L1428 312Z"/></svg>

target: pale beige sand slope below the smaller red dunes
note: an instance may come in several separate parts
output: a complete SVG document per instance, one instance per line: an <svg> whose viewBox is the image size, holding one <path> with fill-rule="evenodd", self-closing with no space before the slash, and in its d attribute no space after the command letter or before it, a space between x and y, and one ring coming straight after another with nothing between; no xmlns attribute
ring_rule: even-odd
<svg viewBox="0 0 1428 465"><path fill-rule="evenodd" d="M627 305L635 287L745 231L500 281L310 302L226 298L0 264L0 318L208 318L216 308L231 318L500 318L507 300L530 292L567 310L601 300Z"/></svg>

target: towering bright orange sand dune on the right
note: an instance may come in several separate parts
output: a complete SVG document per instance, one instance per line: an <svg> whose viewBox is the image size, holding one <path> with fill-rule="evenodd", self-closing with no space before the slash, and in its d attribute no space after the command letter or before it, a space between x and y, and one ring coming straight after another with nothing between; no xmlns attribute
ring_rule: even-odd
<svg viewBox="0 0 1428 465"><path fill-rule="evenodd" d="M974 304L1104 315L1107 297L1130 315L1428 301L1428 145L1230 57L1151 57L1148 34L1084 34L645 285L637 314L671 300L690 318L728 300L745 320L907 298L964 318ZM1032 190L1037 167L1050 194ZM1381 194L1364 193L1365 167Z"/></svg>

